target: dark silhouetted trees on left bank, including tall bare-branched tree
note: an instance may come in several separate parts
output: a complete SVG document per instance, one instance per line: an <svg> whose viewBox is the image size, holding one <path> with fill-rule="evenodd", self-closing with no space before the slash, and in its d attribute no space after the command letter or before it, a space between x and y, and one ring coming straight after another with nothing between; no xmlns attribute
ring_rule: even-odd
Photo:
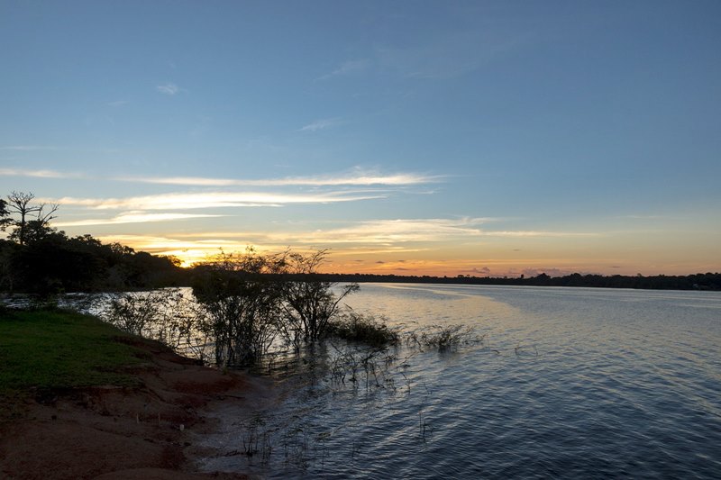
<svg viewBox="0 0 721 480"><path fill-rule="evenodd" d="M68 237L50 226L56 204L30 193L0 199L0 292L62 294L180 285L179 260L136 252L90 235Z"/></svg>

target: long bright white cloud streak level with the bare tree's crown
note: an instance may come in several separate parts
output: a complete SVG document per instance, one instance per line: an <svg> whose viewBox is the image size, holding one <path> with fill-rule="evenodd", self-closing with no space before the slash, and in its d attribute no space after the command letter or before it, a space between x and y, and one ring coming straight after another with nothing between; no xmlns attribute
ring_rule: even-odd
<svg viewBox="0 0 721 480"><path fill-rule="evenodd" d="M350 195L347 192L286 195L272 193L207 192L188 194L145 195L128 198L44 199L64 205L85 206L97 210L194 210L201 208L281 206L284 204L333 204L382 198L384 195ZM42 201L39 199L39 201Z"/></svg>

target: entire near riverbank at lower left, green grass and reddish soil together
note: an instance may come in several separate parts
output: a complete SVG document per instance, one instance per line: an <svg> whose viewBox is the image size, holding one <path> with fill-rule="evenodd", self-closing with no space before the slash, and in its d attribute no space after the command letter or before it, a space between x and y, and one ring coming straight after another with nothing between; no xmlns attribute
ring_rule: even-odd
<svg viewBox="0 0 721 480"><path fill-rule="evenodd" d="M219 404L250 412L269 383L221 372L69 312L0 313L0 476L247 478L200 474L194 444Z"/></svg>

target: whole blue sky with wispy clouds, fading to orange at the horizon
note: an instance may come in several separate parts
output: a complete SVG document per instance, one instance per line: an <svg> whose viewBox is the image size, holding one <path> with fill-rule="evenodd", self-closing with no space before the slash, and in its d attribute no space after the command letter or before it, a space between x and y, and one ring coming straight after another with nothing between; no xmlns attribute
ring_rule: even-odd
<svg viewBox="0 0 721 480"><path fill-rule="evenodd" d="M0 0L0 195L185 265L721 271L721 3Z"/></svg>

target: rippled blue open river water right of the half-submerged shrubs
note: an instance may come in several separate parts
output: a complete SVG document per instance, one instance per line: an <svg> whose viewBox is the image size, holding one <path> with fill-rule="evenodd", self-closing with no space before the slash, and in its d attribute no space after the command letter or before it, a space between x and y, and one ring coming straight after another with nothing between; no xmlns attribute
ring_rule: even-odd
<svg viewBox="0 0 721 480"><path fill-rule="evenodd" d="M205 469L270 478L721 472L721 294L362 285L349 303L406 326L472 324L487 341L443 354L400 349L372 387L333 380L324 355L306 357L278 377L280 405L215 413L224 431L197 439L220 451Z"/></svg>

